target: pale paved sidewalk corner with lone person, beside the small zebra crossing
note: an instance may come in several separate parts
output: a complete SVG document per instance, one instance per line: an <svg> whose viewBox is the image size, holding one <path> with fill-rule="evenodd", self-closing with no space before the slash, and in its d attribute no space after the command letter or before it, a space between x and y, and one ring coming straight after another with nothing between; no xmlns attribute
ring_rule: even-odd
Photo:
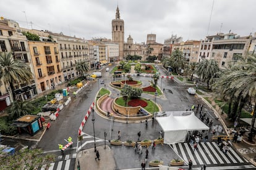
<svg viewBox="0 0 256 170"><path fill-rule="evenodd" d="M109 169L113 170L116 167L114 161L114 152L111 148L106 145L96 147L99 153L99 159L96 159L95 148L90 148L87 150L82 150L77 153L77 158L75 160L75 168L80 169Z"/></svg>

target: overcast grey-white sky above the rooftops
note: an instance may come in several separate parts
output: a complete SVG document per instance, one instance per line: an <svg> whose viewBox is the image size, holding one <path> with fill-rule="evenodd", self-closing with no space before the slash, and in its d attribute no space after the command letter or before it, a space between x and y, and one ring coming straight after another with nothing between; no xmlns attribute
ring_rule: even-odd
<svg viewBox="0 0 256 170"><path fill-rule="evenodd" d="M145 42L150 33L163 43L171 34L186 41L204 39L207 32L231 30L241 36L256 32L253 0L1 0L0 16L25 28L31 28L32 22L37 30L111 39L117 3L124 20L124 38L130 34L134 42Z"/></svg>

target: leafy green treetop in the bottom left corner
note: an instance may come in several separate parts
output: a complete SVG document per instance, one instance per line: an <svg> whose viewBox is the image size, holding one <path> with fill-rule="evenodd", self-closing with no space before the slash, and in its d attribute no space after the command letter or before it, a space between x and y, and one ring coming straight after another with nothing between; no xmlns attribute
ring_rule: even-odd
<svg viewBox="0 0 256 170"><path fill-rule="evenodd" d="M54 161L54 155L43 155L41 149L24 149L14 155L3 156L0 161L2 169L41 169L46 164L45 169L49 168L49 163Z"/></svg>

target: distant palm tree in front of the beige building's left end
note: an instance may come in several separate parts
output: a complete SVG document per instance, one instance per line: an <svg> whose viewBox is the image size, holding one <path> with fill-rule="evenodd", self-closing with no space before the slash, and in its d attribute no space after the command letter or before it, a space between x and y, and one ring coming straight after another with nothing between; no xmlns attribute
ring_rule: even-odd
<svg viewBox="0 0 256 170"><path fill-rule="evenodd" d="M173 67L173 69L178 72L179 68L184 68L186 60L183 56L183 52L176 49L171 53L171 57L169 59L169 65Z"/></svg>

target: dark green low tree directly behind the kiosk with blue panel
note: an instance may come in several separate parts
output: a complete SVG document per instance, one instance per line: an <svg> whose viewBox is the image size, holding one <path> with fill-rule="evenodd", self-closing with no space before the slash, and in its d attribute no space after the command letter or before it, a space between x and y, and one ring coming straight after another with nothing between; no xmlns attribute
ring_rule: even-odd
<svg viewBox="0 0 256 170"><path fill-rule="evenodd" d="M7 113L13 119L17 119L20 116L30 114L35 107L30 102L14 101L12 105L7 108Z"/></svg>

